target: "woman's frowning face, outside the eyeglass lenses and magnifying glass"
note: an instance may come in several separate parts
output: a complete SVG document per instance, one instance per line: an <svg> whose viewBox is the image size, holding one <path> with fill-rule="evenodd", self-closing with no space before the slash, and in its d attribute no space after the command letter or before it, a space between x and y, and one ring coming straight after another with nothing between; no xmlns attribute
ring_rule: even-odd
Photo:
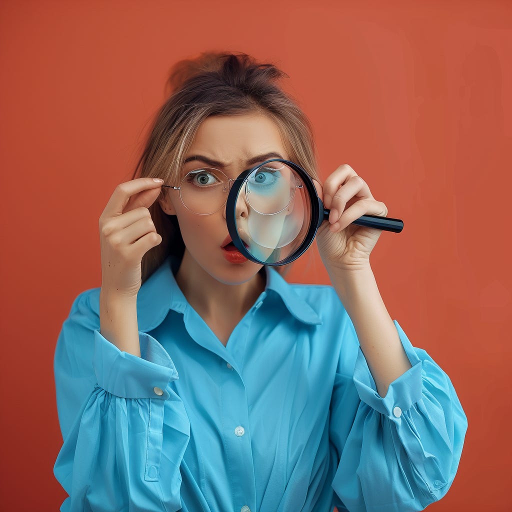
<svg viewBox="0 0 512 512"><path fill-rule="evenodd" d="M281 134L272 119L261 114L212 116L200 125L185 155L181 178L191 170L210 167L234 179L243 170L270 158L289 159ZM245 258L238 258L239 253L230 254L223 249L229 237L225 205L212 214L198 215L187 209L179 191L172 189L167 189L161 205L167 214L177 216L185 250L193 265L198 265L218 281L226 284L244 283L262 267ZM243 210L243 205L237 206L237 215L243 216L244 212L239 208Z"/></svg>

